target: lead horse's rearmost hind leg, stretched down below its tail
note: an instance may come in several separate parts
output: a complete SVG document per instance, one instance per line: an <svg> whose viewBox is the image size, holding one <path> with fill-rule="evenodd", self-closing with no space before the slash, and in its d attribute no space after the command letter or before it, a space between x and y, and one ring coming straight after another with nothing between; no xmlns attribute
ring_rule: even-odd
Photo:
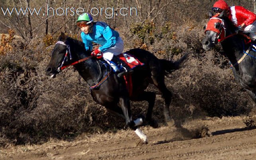
<svg viewBox="0 0 256 160"><path fill-rule="evenodd" d="M156 72L154 72L156 73ZM158 72L159 74L160 72ZM170 117L170 111L169 111L169 107L170 107L170 103L172 101L172 92L170 92L165 84L164 84L164 75L155 75L152 73L151 76L154 85L160 90L160 92L162 92L162 97L164 98L164 102L165 102L165 106L164 106L164 117L165 117L165 121L168 124L168 126L173 126L174 125L174 119L172 119Z"/></svg>

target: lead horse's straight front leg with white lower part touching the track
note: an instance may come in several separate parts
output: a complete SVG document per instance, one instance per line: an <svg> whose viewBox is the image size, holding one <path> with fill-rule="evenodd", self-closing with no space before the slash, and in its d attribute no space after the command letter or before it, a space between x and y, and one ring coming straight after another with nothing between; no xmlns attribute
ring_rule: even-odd
<svg viewBox="0 0 256 160"><path fill-rule="evenodd" d="M135 133L143 140L144 143L147 143L147 136L137 127L142 123L141 119L133 121L131 117L131 104L128 96L120 97L119 98L120 107L123 110L123 115L125 116L125 123L131 129L135 131ZM139 123L139 124L138 124Z"/></svg>

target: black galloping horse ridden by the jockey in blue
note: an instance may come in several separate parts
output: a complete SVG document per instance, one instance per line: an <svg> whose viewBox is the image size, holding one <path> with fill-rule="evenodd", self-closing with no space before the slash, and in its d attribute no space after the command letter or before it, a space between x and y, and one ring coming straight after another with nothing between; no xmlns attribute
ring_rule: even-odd
<svg viewBox="0 0 256 160"><path fill-rule="evenodd" d="M127 92L124 79L118 78L111 71L111 67L109 68L109 66L104 64L104 60L97 60L91 57L90 51L84 49L82 42L66 37L64 33L61 33L51 53L52 56L46 68L46 75L55 77L65 67L63 64L66 66L74 65L82 78L90 85L93 100L105 106L111 113L125 119L126 126L133 129L146 142L146 136L137 128L144 119L132 120L130 100L148 101L149 107L145 120L152 127L157 127L157 123L151 117L156 94L144 91L149 83L154 84L162 92L165 100L164 116L166 123L169 126L174 125L174 120L169 115L172 93L164 84L164 76L178 69L186 55L180 60L172 62L170 60L157 59L154 55L143 49L131 49L128 53L144 63L143 66L134 68L132 74L133 92L131 96ZM70 60L71 57L72 60Z"/></svg>

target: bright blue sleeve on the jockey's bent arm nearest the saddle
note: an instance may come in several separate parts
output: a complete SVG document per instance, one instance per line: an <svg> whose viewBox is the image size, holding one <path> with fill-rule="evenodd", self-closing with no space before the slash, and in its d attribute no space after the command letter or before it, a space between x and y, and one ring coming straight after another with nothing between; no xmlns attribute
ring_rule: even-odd
<svg viewBox="0 0 256 160"><path fill-rule="evenodd" d="M102 33L103 37L106 39L105 45L100 47L100 51L106 51L107 49L114 47L116 43L115 36L113 35L113 32L109 26L107 26Z"/></svg>

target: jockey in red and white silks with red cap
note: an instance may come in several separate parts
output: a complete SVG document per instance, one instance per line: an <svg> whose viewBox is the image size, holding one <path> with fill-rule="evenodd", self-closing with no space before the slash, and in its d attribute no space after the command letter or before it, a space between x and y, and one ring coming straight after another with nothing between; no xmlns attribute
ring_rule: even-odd
<svg viewBox="0 0 256 160"><path fill-rule="evenodd" d="M246 10L242 6L229 7L224 0L215 2L212 10L217 14L221 13L223 10L227 10L226 13L229 20L231 20L236 27L241 27L240 30L252 32L249 33L249 36L252 41L256 40L256 14Z"/></svg>

